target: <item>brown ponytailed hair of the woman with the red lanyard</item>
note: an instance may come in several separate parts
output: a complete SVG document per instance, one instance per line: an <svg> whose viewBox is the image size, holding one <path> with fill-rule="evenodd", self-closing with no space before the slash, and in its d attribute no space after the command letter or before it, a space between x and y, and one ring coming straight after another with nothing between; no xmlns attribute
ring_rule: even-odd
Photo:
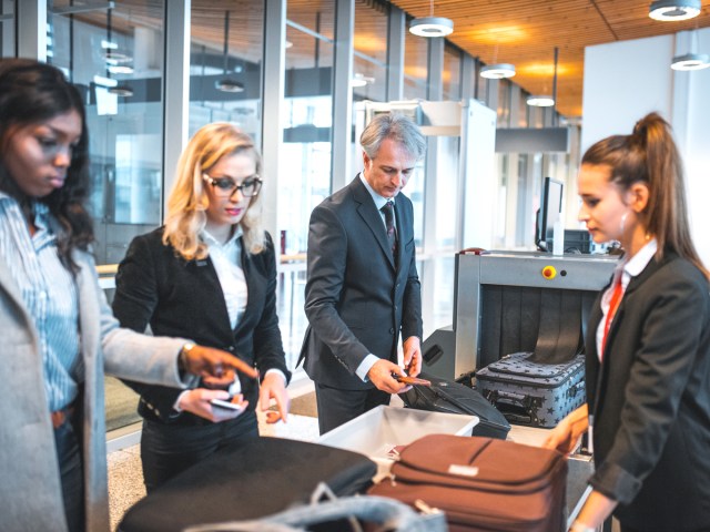
<svg viewBox="0 0 710 532"><path fill-rule="evenodd" d="M658 113L639 120L630 135L597 142L587 150L581 164L608 166L609 181L623 191L635 183L646 184L648 205L639 216L658 242L658 257L672 250L710 277L690 237L682 161L670 125Z"/></svg>

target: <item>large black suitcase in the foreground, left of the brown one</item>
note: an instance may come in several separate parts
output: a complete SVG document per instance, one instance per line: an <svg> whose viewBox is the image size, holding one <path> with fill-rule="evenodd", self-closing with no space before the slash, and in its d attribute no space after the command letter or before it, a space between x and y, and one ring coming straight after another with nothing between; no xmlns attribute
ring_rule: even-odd
<svg viewBox="0 0 710 532"><path fill-rule="evenodd" d="M377 464L364 454L284 438L224 449L165 482L124 515L119 532L174 532L257 519L307 504L320 482L338 497L364 492Z"/></svg>

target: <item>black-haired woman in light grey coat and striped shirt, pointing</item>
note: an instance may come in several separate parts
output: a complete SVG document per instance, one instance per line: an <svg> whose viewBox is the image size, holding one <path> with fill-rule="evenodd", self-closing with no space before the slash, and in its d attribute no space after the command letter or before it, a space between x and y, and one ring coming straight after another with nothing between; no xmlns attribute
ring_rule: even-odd
<svg viewBox="0 0 710 532"><path fill-rule="evenodd" d="M219 385L254 368L185 339L122 329L89 246L79 92L58 69L0 61L0 528L108 531L104 369ZM212 377L211 377L212 376Z"/></svg>

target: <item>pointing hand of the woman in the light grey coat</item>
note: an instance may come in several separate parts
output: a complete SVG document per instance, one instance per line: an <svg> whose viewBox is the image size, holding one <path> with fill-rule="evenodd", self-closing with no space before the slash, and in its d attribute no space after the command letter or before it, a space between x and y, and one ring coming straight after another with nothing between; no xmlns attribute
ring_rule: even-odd
<svg viewBox="0 0 710 532"><path fill-rule="evenodd" d="M255 379L258 371L234 355L212 347L193 346L180 357L183 370L202 377L211 388L226 387L234 381L234 372Z"/></svg>

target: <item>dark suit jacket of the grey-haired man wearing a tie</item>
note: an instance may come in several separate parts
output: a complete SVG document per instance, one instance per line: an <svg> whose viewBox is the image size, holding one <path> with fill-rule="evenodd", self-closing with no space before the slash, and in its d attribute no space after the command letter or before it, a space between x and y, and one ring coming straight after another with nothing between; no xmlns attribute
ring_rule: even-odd
<svg viewBox="0 0 710 532"><path fill-rule="evenodd" d="M359 176L311 214L308 317L302 356L325 386L372 388L355 370L368 355L397 361L397 336L422 338L422 295L416 268L414 211L395 200L397 254L387 244L382 215ZM397 267L395 267L395 264Z"/></svg>

